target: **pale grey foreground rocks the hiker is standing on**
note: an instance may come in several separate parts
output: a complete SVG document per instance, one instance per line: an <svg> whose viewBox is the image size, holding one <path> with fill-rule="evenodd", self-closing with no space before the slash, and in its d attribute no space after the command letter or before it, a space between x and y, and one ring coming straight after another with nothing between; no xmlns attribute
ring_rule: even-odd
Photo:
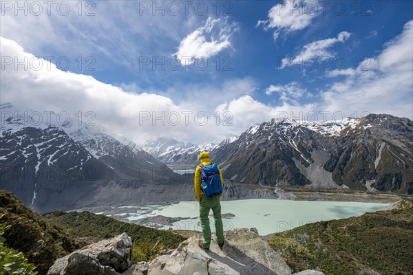
<svg viewBox="0 0 413 275"><path fill-rule="evenodd" d="M215 236L213 236L214 239ZM57 259L48 275L151 275L151 274L292 274L282 256L277 254L255 228L225 232L223 251L215 241L207 253L198 247L197 234L180 243L176 250L163 250L151 261L131 263L132 241L126 234L94 243ZM321 275L304 270L296 275Z"/></svg>

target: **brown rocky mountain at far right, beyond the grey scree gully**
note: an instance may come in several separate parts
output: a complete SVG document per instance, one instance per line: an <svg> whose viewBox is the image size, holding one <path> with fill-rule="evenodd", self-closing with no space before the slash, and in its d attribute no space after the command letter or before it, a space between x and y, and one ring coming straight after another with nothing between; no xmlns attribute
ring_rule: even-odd
<svg viewBox="0 0 413 275"><path fill-rule="evenodd" d="M413 123L370 114L344 129L326 169L353 189L413 193Z"/></svg>

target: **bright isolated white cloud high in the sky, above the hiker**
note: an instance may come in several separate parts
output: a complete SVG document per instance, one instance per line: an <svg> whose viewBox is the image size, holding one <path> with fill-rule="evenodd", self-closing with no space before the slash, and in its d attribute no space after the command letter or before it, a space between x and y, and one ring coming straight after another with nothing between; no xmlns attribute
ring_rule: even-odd
<svg viewBox="0 0 413 275"><path fill-rule="evenodd" d="M231 47L229 39L234 31L235 24L229 24L226 19L209 17L202 27L180 41L178 52L173 56L176 56L182 65L190 65L196 58L207 59L215 56Z"/></svg>

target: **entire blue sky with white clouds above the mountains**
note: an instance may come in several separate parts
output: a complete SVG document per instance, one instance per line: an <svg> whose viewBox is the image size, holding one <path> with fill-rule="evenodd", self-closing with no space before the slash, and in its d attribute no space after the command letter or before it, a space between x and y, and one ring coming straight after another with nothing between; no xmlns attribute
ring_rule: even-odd
<svg viewBox="0 0 413 275"><path fill-rule="evenodd" d="M108 112L96 115L98 122L134 140L168 135L217 142L279 113L413 117L412 1L83 1L81 10L78 1L58 1L49 14L43 2L25 2L20 10L14 1L6 2L1 3L4 49L52 56L56 70L67 72L61 88L56 86L61 72L42 72L56 80L54 86L48 80L37 88L37 100L29 100L33 91L23 102L12 89L30 93L23 90L32 87L39 72L28 77L33 79L27 86L12 87L7 81L16 81L32 68L6 66L1 72L2 101L32 109L76 113L82 107L98 113L101 109L92 101L73 103L76 108L69 103L74 91L67 81L82 82L81 75L87 75L96 81L77 87L86 98L87 87L109 84L123 96L136 95L134 100L142 104L136 106L146 107L140 107L142 112L204 111L211 119L220 111L233 118L231 127L217 125L211 135L199 133L204 128L199 131L198 124L191 128L152 123L132 131L125 121L136 120L140 113L133 106L125 110L120 96L107 96L116 108L109 111L110 118ZM63 14L67 5L70 12ZM6 40L16 45L6 47ZM60 98L69 101L50 96L56 96L56 88L63 91ZM102 100L101 94L98 97ZM154 101L159 105L152 106Z"/></svg>

